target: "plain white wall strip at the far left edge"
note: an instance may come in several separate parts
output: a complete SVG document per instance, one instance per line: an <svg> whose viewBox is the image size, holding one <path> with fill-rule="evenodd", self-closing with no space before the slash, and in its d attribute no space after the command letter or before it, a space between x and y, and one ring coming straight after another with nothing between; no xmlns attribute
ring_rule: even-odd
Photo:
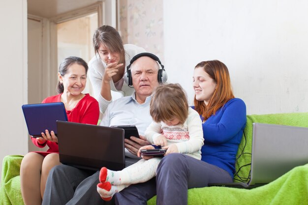
<svg viewBox="0 0 308 205"><path fill-rule="evenodd" d="M28 152L21 106L27 103L27 0L0 3L0 170L8 154Z"/></svg>

